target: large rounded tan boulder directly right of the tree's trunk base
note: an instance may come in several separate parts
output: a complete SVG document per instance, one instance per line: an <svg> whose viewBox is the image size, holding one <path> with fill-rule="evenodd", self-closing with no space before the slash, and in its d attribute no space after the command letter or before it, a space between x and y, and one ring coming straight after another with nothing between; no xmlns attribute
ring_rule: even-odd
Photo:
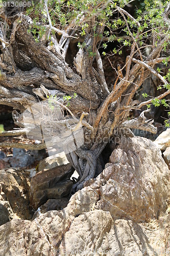
<svg viewBox="0 0 170 256"><path fill-rule="evenodd" d="M112 152L112 165L90 185L101 197L95 208L138 222L158 218L169 202L169 169L154 142L126 140Z"/></svg>

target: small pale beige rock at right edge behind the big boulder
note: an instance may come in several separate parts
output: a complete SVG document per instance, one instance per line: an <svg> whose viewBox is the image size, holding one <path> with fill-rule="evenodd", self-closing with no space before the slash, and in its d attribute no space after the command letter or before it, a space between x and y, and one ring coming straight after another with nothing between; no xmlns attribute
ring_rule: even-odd
<svg viewBox="0 0 170 256"><path fill-rule="evenodd" d="M161 133L155 140L156 145L160 150L165 150L166 147L170 146L170 128L167 128L166 131Z"/></svg>

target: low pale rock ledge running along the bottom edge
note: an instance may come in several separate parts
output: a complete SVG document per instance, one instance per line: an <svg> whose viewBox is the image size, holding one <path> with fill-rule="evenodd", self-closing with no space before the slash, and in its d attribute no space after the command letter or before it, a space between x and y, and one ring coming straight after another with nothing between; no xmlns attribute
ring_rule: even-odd
<svg viewBox="0 0 170 256"><path fill-rule="evenodd" d="M48 211L0 227L0 255L169 255L170 215L152 223L114 220L110 212L79 216Z"/></svg>

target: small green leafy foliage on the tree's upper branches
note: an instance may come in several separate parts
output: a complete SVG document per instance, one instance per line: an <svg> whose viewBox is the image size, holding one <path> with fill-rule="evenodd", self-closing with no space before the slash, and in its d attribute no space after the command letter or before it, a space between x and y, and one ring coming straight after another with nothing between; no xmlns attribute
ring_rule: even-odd
<svg viewBox="0 0 170 256"><path fill-rule="evenodd" d="M128 4L128 2L130 2ZM138 50L135 51L135 57L140 59L147 55L146 51L151 51L159 44L163 37L169 38L169 22L165 22L162 18L168 1L144 0L139 1L96 1L96 0L69 0L57 1L48 0L48 12L51 17L52 26L65 32L76 31L72 36L79 38L79 49L85 49L89 58L94 58L96 52L95 47L87 45L84 38L90 34L96 38L98 49L102 50L102 55L110 57L111 55L123 53L123 49L132 47L133 42L136 43ZM137 8L136 8L137 6ZM123 9L119 9L123 8ZM129 15L126 13L128 10ZM119 13L118 13L119 11ZM41 14L41 15L40 15ZM49 28L48 33L46 26L49 26L47 10L44 8L44 2L40 1L36 6L27 11L27 15L33 18L33 24L30 26L29 32L35 37L36 42L46 38L46 43L53 46L54 41L51 36L56 32ZM90 20L95 16L93 25ZM104 28L103 30L100 28ZM57 37L62 34L58 33ZM169 67L169 57L166 56L169 47L169 41L163 43L162 63L164 67ZM116 42L117 46L110 51L108 45L110 42ZM110 47L110 46L109 46ZM140 55L140 56L139 56ZM162 68L157 66L156 72L162 74ZM160 84L158 90L170 90L170 69L163 79L165 84ZM144 98L152 98L148 94L142 95ZM65 96L65 100L69 101L70 96ZM160 106L161 104L167 109L169 103L166 99L152 99L151 104ZM151 104L148 104L150 108ZM69 102L68 102L69 105Z"/></svg>

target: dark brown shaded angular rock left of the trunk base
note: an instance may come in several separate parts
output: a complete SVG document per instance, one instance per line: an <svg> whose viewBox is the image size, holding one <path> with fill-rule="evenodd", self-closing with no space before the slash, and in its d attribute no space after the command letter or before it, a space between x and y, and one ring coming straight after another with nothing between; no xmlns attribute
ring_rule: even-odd
<svg viewBox="0 0 170 256"><path fill-rule="evenodd" d="M72 173L74 169L70 163L37 173L31 180L30 205L37 209L48 199L69 195L73 184L70 180Z"/></svg>

